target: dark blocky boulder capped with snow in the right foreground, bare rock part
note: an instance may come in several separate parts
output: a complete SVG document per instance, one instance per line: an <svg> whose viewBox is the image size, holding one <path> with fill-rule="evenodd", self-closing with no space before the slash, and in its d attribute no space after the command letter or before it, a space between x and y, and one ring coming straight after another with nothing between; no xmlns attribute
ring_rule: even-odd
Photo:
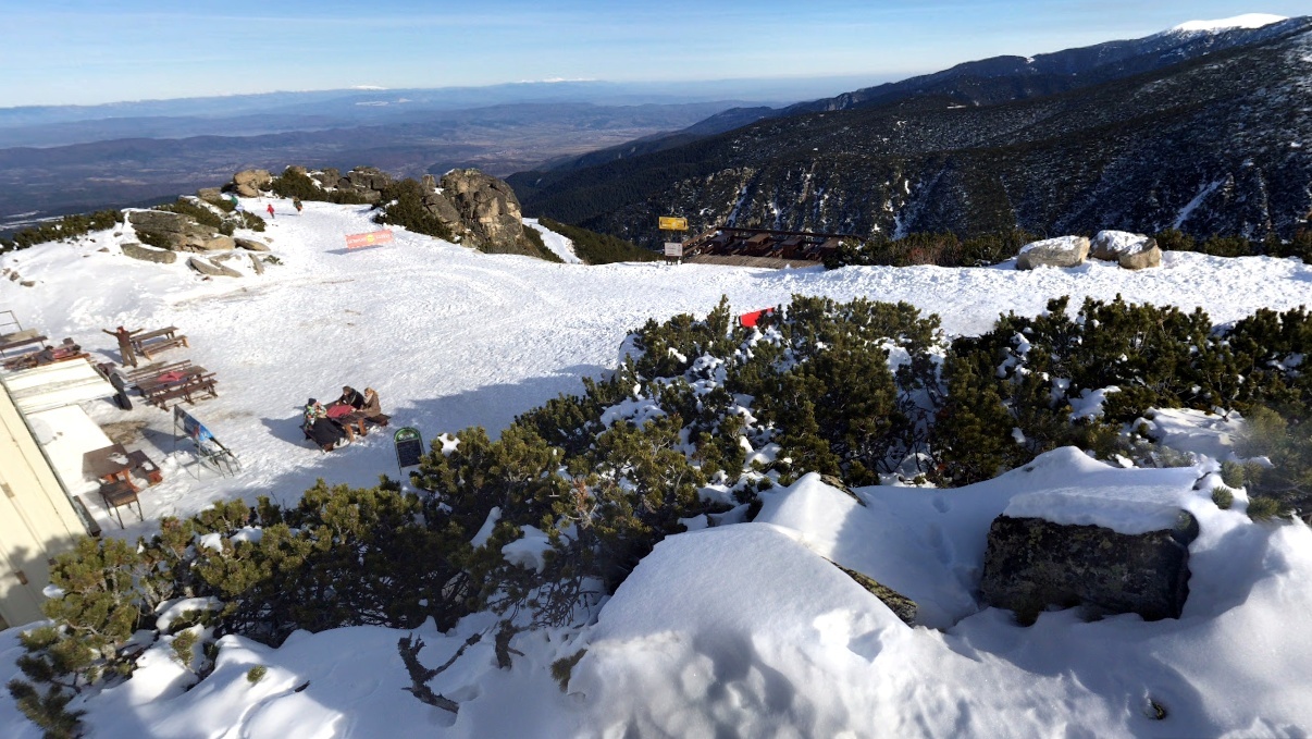
<svg viewBox="0 0 1312 739"><path fill-rule="evenodd" d="M1076 605L1094 617L1178 618L1189 596L1189 542L1197 536L1197 521L1183 511L1174 526L1136 534L1004 513L989 528L980 595L1022 622L1051 606Z"/></svg>

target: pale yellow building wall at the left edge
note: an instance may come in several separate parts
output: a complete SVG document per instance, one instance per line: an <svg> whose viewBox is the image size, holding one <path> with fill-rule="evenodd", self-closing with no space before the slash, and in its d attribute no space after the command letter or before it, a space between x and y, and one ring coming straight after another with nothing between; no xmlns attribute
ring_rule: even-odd
<svg viewBox="0 0 1312 739"><path fill-rule="evenodd" d="M50 560L85 534L77 513L0 389L0 617L18 626L42 618ZM26 579L26 583L22 580Z"/></svg>

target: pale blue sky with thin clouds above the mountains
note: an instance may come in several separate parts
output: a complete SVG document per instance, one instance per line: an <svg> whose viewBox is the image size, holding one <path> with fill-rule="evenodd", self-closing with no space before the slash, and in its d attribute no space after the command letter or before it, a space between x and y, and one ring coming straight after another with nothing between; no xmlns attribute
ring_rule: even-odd
<svg viewBox="0 0 1312 739"><path fill-rule="evenodd" d="M0 108L356 85L870 75L1148 35L1305 0L0 0Z"/></svg>

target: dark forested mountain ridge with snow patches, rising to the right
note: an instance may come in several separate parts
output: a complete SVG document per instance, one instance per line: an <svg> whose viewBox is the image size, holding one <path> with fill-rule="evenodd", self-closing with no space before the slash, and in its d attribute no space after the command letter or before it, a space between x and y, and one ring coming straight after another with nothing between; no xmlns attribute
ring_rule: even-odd
<svg viewBox="0 0 1312 739"><path fill-rule="evenodd" d="M529 214L648 245L656 211L694 230L1288 238L1312 207L1312 122L1298 104L1312 18L1275 25L1249 45L1054 95L967 105L925 92L508 181Z"/></svg>

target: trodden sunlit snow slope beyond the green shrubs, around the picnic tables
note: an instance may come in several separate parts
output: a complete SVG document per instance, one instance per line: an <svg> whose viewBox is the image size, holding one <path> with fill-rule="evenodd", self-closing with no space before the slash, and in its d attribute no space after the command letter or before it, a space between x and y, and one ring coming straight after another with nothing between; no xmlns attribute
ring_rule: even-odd
<svg viewBox="0 0 1312 739"><path fill-rule="evenodd" d="M186 457L169 457L172 419L161 411L122 412L109 402L92 408L102 424L144 424L152 457L168 457L165 483L143 496L147 520L239 495L289 500L320 476L374 484L379 474L395 475L391 444L380 434L333 454L306 442L298 427L308 398L336 398L342 385L374 387L394 427L413 425L425 440L470 425L495 434L516 415L580 391L581 377L613 369L621 340L648 318L705 315L720 295L743 312L792 294L907 301L941 315L949 333L975 333L1000 312L1033 315L1064 294L1075 305L1084 295L1120 294L1202 306L1218 323L1258 306L1295 307L1312 294L1312 268L1302 263L1197 253L1166 253L1160 269L1140 272L1097 263L1034 272L1010 264L834 272L584 266L483 255L401 230L395 244L348 252L346 234L377 228L366 209L307 202L298 217L286 201L248 200L245 207L262 213L268 202L285 215L265 234L248 235L266 236L282 264L262 276L202 280L181 263L125 257L117 244L133 240L130 231L0 256L0 269L37 282L0 280L0 308L25 327L56 340L72 336L94 361L117 361L117 344L101 328L177 326L192 347L163 357L216 373L219 398L192 410L241 457L235 479L197 480L178 469Z"/></svg>

